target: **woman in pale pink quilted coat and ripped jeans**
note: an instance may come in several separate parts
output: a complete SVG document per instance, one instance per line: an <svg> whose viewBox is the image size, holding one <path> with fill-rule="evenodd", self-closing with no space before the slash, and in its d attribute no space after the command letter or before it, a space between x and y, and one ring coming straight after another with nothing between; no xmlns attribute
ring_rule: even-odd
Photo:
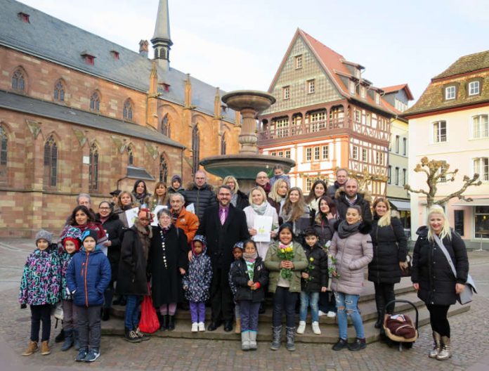
<svg viewBox="0 0 489 371"><path fill-rule="evenodd" d="M334 351L346 347L351 351L360 351L367 346L362 317L358 313L358 299L364 286L364 268L372 261L374 253L369 234L372 226L363 222L361 215L359 206L348 207L346 220L339 222L330 246L333 268L336 268L332 274L331 289L337 301L339 327L339 340L333 346ZM351 344L348 344L346 333L348 315L356 331L356 341Z"/></svg>

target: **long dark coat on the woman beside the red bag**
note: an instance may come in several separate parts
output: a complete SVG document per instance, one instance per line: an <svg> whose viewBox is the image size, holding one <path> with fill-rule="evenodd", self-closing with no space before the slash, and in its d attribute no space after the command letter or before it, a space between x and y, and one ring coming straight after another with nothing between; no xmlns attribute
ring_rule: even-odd
<svg viewBox="0 0 489 371"><path fill-rule="evenodd" d="M139 228L142 228L139 226ZM150 227L151 228L151 227ZM149 245L150 235L147 238ZM146 279L146 265L148 263L141 242L138 226L134 224L125 231L122 240L119 273L117 274L117 292L121 295L148 295L148 280Z"/></svg>

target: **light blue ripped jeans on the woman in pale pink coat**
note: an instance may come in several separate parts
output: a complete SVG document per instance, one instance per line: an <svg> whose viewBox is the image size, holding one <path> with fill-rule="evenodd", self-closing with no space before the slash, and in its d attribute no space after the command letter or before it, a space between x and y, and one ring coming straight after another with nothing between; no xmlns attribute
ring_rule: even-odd
<svg viewBox="0 0 489 371"><path fill-rule="evenodd" d="M334 296L337 301L337 321L339 329L339 337L341 339L348 339L348 318L349 315L355 327L356 337L360 339L365 338L365 332L363 330L362 317L358 313L358 298L360 295L344 294L343 292L334 292Z"/></svg>

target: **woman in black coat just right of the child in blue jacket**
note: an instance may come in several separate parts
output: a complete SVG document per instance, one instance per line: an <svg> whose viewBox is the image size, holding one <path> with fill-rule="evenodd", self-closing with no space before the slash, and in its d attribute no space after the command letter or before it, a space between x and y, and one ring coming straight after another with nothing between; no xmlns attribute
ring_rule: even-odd
<svg viewBox="0 0 489 371"><path fill-rule="evenodd" d="M102 320L109 320L110 307L114 297L114 283L117 281L117 271L119 269L119 259L121 258L122 229L124 224L117 214L114 214L114 207L108 201L102 201L98 204L98 213L96 221L102 224L107 234L108 240L103 242L107 247L107 259L109 259L112 276L110 284L104 292L104 302L102 309Z"/></svg>

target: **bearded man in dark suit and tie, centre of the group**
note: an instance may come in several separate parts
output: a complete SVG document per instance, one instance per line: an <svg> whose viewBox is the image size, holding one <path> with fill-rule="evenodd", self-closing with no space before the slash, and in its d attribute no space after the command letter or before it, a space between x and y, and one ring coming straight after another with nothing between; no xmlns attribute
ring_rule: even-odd
<svg viewBox="0 0 489 371"><path fill-rule="evenodd" d="M233 246L249 238L246 216L231 204L231 190L221 186L219 204L205 209L197 235L207 238L207 254L212 263L212 322L207 330L214 331L224 320L224 331L233 330L233 294L229 287L229 268L233 262Z"/></svg>

